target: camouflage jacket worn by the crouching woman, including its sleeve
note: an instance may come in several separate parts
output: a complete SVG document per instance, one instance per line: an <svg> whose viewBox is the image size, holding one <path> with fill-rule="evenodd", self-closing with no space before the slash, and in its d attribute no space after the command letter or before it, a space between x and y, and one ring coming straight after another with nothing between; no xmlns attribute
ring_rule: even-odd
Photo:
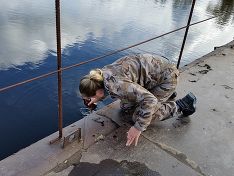
<svg viewBox="0 0 234 176"><path fill-rule="evenodd" d="M163 71L168 67L175 66L163 57L142 54L122 57L102 68L105 89L112 98L132 104L134 126L140 131L147 128L159 108L150 89L163 81Z"/></svg>

